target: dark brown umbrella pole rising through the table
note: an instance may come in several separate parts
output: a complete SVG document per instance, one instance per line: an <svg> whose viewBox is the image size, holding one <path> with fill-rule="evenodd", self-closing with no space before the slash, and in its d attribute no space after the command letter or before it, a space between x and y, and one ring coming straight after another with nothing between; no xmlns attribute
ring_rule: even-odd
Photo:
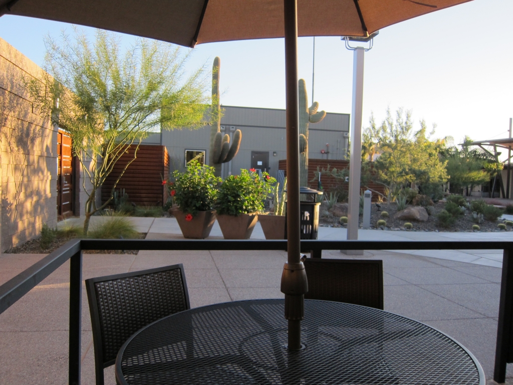
<svg viewBox="0 0 513 385"><path fill-rule="evenodd" d="M299 203L299 101L298 101L298 5L284 0L285 89L287 126L287 263L281 291L285 294L289 350L301 350L301 320L308 292L305 266L301 262Z"/></svg>

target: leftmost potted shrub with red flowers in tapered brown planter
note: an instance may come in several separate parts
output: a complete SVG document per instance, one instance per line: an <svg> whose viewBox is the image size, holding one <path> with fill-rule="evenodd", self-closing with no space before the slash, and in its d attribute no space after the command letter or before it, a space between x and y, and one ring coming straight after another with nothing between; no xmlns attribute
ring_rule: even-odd
<svg viewBox="0 0 513 385"><path fill-rule="evenodd" d="M214 176L214 168L202 166L198 161L187 165L185 172L173 172L174 182L168 182L175 206L172 214L185 238L205 239L215 222L212 205L221 178Z"/></svg>

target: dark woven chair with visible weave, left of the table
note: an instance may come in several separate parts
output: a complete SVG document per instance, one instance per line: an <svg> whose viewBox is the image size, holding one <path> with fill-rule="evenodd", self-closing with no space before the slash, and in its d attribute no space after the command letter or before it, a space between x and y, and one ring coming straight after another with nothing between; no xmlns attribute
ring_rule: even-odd
<svg viewBox="0 0 513 385"><path fill-rule="evenodd" d="M136 331L170 314L190 309L184 266L86 279L94 343L96 385L104 369Z"/></svg>

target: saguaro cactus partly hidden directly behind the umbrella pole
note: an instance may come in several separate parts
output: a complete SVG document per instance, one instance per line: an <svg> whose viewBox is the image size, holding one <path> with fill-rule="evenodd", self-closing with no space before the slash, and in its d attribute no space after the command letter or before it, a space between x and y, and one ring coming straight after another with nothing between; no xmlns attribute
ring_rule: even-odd
<svg viewBox="0 0 513 385"><path fill-rule="evenodd" d="M319 103L308 106L305 80L299 80L299 183L308 185L308 123L319 123L326 116L326 111L319 111Z"/></svg>

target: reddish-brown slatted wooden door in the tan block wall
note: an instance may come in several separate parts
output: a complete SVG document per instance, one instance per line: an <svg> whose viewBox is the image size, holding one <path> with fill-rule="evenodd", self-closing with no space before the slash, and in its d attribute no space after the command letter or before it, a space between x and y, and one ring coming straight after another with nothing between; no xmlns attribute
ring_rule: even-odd
<svg viewBox="0 0 513 385"><path fill-rule="evenodd" d="M65 219L73 215L73 157L71 137L59 129L57 134L57 216Z"/></svg>

